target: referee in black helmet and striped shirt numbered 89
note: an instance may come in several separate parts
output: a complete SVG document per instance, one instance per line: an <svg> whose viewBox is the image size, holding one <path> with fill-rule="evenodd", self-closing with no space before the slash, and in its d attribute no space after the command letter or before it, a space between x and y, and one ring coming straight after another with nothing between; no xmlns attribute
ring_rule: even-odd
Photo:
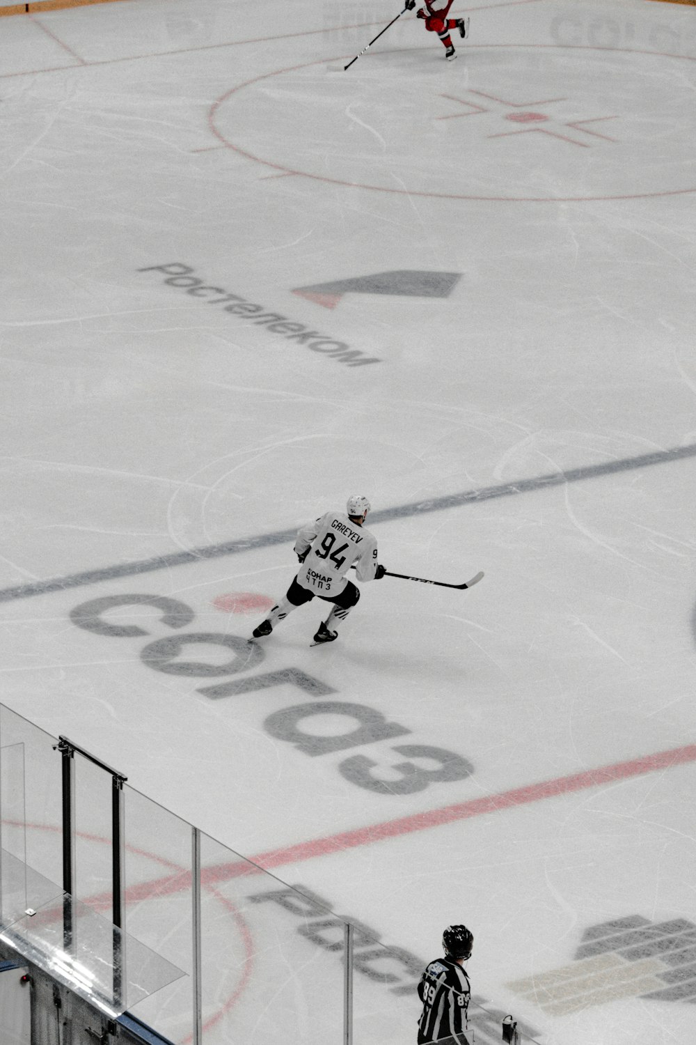
<svg viewBox="0 0 696 1045"><path fill-rule="evenodd" d="M431 961L418 983L423 1002L418 1045L446 1039L447 1045L472 1045L466 1032L471 986L462 966L473 946L474 936L465 925L450 925L442 933L445 957Z"/></svg>

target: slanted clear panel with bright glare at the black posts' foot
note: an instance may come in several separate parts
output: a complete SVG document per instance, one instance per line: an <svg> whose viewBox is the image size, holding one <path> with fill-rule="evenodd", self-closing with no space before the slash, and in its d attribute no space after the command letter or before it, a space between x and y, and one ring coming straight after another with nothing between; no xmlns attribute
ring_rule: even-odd
<svg viewBox="0 0 696 1045"><path fill-rule="evenodd" d="M46 886L50 888L50 883ZM65 927L71 933L66 937ZM184 975L86 904L62 893L5 926L0 939L75 994L113 1016ZM115 954L127 953L123 990L114 995Z"/></svg>

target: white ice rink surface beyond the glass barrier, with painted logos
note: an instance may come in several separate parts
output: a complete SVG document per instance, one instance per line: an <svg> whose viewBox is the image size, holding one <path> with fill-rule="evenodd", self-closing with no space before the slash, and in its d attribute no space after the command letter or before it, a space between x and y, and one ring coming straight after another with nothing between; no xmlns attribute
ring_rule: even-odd
<svg viewBox="0 0 696 1045"><path fill-rule="evenodd" d="M543 1045L682 1043L696 11L455 0L458 61L408 14L344 72L397 13L0 20L2 702L385 943L464 922ZM247 651L352 492L484 580Z"/></svg>

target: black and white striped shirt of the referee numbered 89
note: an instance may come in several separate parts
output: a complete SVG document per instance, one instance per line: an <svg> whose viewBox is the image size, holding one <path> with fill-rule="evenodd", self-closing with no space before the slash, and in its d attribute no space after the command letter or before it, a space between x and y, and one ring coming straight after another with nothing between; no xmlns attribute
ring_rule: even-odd
<svg viewBox="0 0 696 1045"><path fill-rule="evenodd" d="M418 1045L458 1037L467 1045L466 1009L471 986L466 973L452 958L431 961L418 983L423 1014L418 1020Z"/></svg>

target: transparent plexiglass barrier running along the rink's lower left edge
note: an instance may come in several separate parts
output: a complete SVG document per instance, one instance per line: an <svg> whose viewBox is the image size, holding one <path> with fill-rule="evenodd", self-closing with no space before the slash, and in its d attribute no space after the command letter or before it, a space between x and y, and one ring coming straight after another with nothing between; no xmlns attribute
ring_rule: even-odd
<svg viewBox="0 0 696 1045"><path fill-rule="evenodd" d="M174 1045L265 1045L279 1032L302 1045L413 1045L426 959L119 776L0 705L5 944ZM502 1040L504 1015L474 996L476 1045Z"/></svg>

